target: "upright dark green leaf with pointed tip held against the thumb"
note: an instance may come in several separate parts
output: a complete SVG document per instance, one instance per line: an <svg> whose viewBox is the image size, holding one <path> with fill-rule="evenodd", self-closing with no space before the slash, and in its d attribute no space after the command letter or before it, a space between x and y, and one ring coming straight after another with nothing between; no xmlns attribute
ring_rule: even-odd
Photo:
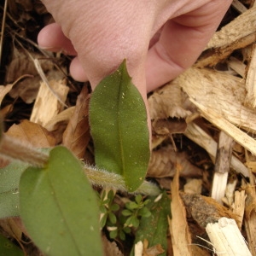
<svg viewBox="0 0 256 256"><path fill-rule="evenodd" d="M128 191L144 180L150 156L147 111L125 61L90 98L90 131L96 166L125 178Z"/></svg>

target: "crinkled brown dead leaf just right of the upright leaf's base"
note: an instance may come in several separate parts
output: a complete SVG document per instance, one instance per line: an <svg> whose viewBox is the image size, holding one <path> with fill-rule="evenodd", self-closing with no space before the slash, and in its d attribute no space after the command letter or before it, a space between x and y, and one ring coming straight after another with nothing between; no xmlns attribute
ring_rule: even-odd
<svg viewBox="0 0 256 256"><path fill-rule="evenodd" d="M148 165L148 177L173 177L176 166L180 166L180 176L199 177L202 172L193 166L188 155L184 152L175 152L171 145L153 151Z"/></svg>

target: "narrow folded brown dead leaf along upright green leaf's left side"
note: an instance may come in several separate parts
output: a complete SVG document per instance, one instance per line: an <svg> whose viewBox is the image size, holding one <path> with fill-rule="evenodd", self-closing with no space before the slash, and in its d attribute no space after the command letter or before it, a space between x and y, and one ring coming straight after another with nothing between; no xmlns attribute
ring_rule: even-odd
<svg viewBox="0 0 256 256"><path fill-rule="evenodd" d="M78 96L73 116L63 134L63 144L79 158L84 157L85 149L90 140L89 99L88 89L84 86Z"/></svg>

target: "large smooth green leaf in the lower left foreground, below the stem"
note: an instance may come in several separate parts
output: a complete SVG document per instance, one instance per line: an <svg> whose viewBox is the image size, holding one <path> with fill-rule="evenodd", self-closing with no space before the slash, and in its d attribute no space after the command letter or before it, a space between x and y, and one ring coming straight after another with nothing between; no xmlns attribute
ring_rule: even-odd
<svg viewBox="0 0 256 256"><path fill-rule="evenodd" d="M23 172L20 216L46 255L102 255L96 194L67 148L53 148L45 168Z"/></svg>

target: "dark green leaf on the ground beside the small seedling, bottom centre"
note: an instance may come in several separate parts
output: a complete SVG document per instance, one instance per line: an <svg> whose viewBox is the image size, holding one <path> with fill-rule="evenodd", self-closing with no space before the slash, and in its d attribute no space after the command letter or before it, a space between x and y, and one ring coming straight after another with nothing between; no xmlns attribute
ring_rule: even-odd
<svg viewBox="0 0 256 256"><path fill-rule="evenodd" d="M164 193L160 201L157 202L154 202L154 198L151 197L151 201L147 206L151 215L149 217L141 218L134 244L137 243L137 241L144 241L144 239L147 239L148 247L160 244L165 250L167 249L167 216L171 214L170 206L171 201L166 193ZM133 254L131 253L131 255ZM166 255L166 253L160 255Z"/></svg>

